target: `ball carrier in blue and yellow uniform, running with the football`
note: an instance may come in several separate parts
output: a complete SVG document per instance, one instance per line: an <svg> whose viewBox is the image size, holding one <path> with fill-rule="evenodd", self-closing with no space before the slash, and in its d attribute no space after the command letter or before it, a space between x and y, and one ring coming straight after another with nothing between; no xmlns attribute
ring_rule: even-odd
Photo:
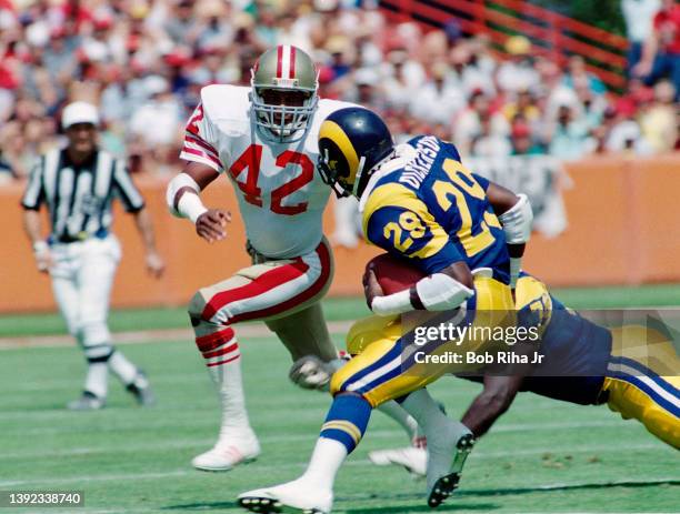
<svg viewBox="0 0 680 514"><path fill-rule="evenodd" d="M452 311L474 329L514 326L511 288L531 231L527 196L468 171L456 148L434 137L394 145L384 122L362 108L330 114L319 132L319 171L338 195L360 199L369 242L408 259L427 276L406 291L382 294L374 275L367 300L383 316L412 310ZM484 337L467 339L483 351ZM459 342L460 344L460 342ZM428 439L428 504L457 487L473 435L448 419L423 389L444 373L469 366L441 357L454 341L426 349L424 362L404 340L378 341L332 376L333 403L304 474L287 484L239 496L260 513L328 513L338 470L363 436L371 410L400 400ZM406 353L404 353L406 352Z"/></svg>

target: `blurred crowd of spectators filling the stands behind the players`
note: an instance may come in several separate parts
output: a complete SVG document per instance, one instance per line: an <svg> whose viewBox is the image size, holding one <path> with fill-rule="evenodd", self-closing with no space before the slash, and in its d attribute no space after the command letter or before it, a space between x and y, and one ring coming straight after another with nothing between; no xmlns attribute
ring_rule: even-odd
<svg viewBox="0 0 680 514"><path fill-rule="evenodd" d="M173 171L200 88L248 84L277 43L310 51L320 94L378 110L398 139L430 132L463 155L564 160L678 147L669 80L632 74L611 95L581 57L559 67L516 36L499 60L454 21L390 24L373 0L0 0L0 174L28 173L73 99L100 105L102 144L132 171Z"/></svg>

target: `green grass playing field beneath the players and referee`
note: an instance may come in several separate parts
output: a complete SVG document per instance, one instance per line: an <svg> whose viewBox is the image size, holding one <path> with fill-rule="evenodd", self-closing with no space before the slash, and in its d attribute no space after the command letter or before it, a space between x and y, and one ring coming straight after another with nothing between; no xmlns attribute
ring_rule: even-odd
<svg viewBox="0 0 680 514"><path fill-rule="evenodd" d="M629 294L619 292L619 298L631 302ZM359 301L330 302L327 311L330 319L364 312ZM186 326L180 311L150 313L118 312L112 325ZM53 333L61 326L56 320L0 319L0 334ZM63 405L79 393L84 370L78 349L0 351L0 491L84 492L84 508L44 510L54 513L241 512L234 505L240 492L293 478L303 470L329 397L288 382L289 357L273 337L241 341L248 406L263 452L257 462L226 474L201 473L189 464L211 446L218 430L217 399L193 342L121 349L147 370L159 397L156 407L137 407L111 382L106 410L67 412ZM444 377L431 391L457 415L478 386ZM367 458L370 450L406 443L396 425L376 413L363 443L340 472L334 512L429 512L422 482L399 468L374 467ZM680 510L679 464L677 452L606 406L523 394L478 443L461 488L440 511L674 512Z"/></svg>

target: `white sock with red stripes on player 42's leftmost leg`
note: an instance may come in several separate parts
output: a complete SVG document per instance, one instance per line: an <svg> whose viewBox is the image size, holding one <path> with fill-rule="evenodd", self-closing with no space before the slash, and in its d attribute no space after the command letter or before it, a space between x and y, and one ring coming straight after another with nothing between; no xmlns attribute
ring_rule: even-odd
<svg viewBox="0 0 680 514"><path fill-rule="evenodd" d="M196 344L206 360L208 373L216 385L222 407L220 439L250 431L246 397L241 379L241 352L233 329L196 337Z"/></svg>

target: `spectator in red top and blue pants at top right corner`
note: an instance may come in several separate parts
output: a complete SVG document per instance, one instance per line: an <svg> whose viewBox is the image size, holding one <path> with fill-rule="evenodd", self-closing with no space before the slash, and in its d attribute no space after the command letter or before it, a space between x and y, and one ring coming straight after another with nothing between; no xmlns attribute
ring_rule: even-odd
<svg viewBox="0 0 680 514"><path fill-rule="evenodd" d="M633 71L643 77L648 85L668 75L676 88L676 101L680 101L680 4L676 0L662 0L661 10L654 16L652 34Z"/></svg>

